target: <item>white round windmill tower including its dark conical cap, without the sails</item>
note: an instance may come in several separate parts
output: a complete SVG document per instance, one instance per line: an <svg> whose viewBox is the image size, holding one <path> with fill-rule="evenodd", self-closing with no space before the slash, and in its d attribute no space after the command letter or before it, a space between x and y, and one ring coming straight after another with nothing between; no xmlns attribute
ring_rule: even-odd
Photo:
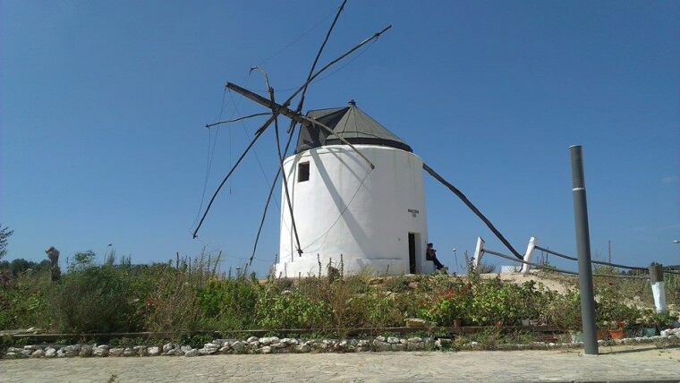
<svg viewBox="0 0 680 383"><path fill-rule="evenodd" d="M281 192L281 239L276 277L327 274L330 264L354 274L427 273L427 215L421 158L350 102L311 111L334 134L302 126L296 153L285 158L298 254L290 211ZM375 166L337 136L351 142ZM341 264L342 260L342 264ZM319 267L320 262L320 267Z"/></svg>

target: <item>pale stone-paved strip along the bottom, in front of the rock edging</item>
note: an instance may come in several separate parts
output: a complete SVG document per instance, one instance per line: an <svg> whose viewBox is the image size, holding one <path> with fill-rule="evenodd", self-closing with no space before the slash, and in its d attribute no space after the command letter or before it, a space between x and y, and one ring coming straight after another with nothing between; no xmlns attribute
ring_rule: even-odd
<svg viewBox="0 0 680 383"><path fill-rule="evenodd" d="M577 351L288 353L0 361L0 381L680 380L680 348Z"/></svg>

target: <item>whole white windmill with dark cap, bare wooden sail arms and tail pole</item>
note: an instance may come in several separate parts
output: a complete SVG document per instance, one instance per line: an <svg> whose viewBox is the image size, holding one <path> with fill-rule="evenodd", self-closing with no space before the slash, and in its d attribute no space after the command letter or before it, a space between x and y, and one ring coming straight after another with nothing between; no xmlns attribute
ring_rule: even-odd
<svg viewBox="0 0 680 383"><path fill-rule="evenodd" d="M253 67L251 72L262 74L268 97L227 82L226 89L251 99L264 106L267 111L209 124L207 127L261 115L269 117L255 132L254 138L217 187L193 232L194 238L197 237L219 191L253 145L273 125L278 169L274 182L271 183L249 265L257 251L259 235L276 181L282 176L282 200L285 203L281 206L280 249L275 265L279 275L307 276L316 274L316 270L321 273L321 257L324 264L329 266L333 258L337 261L344 257L343 266L349 272L367 266L378 272L393 274L434 270L433 264L425 259L424 254L427 219L421 169L461 198L501 242L511 249L515 257L522 259L461 191L446 182L420 157L413 154L404 140L363 112L353 100L344 107L302 114L305 94L312 81L391 28L387 26L379 30L316 70L319 57L345 4L346 0L340 5L326 38L319 47L307 80L282 103L276 102L275 91L269 83L267 72L262 68ZM291 104L297 97L298 104L293 109ZM283 150L279 117L290 120ZM297 126L300 129L295 152L286 157Z"/></svg>

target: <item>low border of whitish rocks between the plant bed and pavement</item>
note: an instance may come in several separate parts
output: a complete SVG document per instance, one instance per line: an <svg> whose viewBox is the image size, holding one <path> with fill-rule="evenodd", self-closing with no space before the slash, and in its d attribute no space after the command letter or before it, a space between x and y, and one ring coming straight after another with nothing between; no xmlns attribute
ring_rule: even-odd
<svg viewBox="0 0 680 383"><path fill-rule="evenodd" d="M666 332L663 336L633 337L619 340L598 341L599 345L638 345L663 342L666 345L680 345L680 328ZM495 350L547 350L559 348L580 348L579 343L533 342L525 345L495 345ZM455 345L451 338L412 336L377 336L373 339L315 339L278 338L276 336L251 336L246 340L215 339L193 348L191 345L168 343L158 345L136 345L132 347L111 347L109 345L25 345L9 347L4 359L19 358L71 358L106 356L200 356L231 353L361 353L385 351L426 351L426 350L484 350L485 345L470 342Z"/></svg>

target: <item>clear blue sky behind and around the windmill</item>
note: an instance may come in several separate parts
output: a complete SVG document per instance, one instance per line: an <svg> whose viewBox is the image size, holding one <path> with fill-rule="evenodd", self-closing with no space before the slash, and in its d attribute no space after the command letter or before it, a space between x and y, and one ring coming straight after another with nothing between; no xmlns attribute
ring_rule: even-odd
<svg viewBox="0 0 680 383"><path fill-rule="evenodd" d="M135 263L208 246L225 252L222 269L238 265L276 171L274 143L259 142L193 240L203 126L221 108L225 118L262 110L228 93L220 104L225 81L264 90L248 76L254 64L278 98L300 85L339 3L0 3L7 258L41 260L49 245L64 258L101 255L113 243ZM680 3L350 0L321 62L387 24L311 86L305 108L354 98L520 251L535 235L575 252L568 147L582 144L593 253L606 258L611 240L616 261L680 263ZM259 123L212 132L208 194ZM427 175L425 186L429 240L445 263L478 235L505 251L443 186ZM258 271L277 251L274 208Z"/></svg>

